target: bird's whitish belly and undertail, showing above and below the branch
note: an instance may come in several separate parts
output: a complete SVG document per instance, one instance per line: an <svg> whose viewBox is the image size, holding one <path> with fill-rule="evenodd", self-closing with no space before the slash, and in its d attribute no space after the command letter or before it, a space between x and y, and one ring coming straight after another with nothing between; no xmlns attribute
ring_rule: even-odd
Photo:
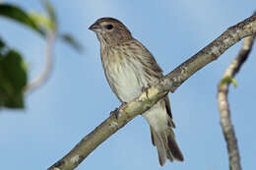
<svg viewBox="0 0 256 170"><path fill-rule="evenodd" d="M107 80L114 93L122 102L129 102L142 93L142 87L153 83L154 78L147 75L143 66L138 61L132 64L109 64L105 70ZM143 117L154 127L157 132L165 130L167 125L167 114L165 107L160 101L150 110L143 114Z"/></svg>

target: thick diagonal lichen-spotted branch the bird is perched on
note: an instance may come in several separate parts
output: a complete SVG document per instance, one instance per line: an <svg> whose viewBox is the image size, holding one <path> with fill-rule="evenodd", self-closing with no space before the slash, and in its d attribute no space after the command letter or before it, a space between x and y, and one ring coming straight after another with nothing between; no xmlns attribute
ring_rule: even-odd
<svg viewBox="0 0 256 170"><path fill-rule="evenodd" d="M217 60L224 51L240 39L256 32L256 15L227 28L216 40L197 54L167 74L159 83L152 85L140 96L127 104L121 105L116 114L111 114L96 129L82 139L67 155L57 161L48 170L70 170L76 168L101 142L125 126L135 116L150 109L160 98L182 85L188 78L207 64Z"/></svg>

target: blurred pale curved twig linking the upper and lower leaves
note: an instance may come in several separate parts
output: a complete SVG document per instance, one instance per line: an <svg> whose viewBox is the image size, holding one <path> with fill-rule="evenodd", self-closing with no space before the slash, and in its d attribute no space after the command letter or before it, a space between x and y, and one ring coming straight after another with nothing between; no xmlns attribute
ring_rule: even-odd
<svg viewBox="0 0 256 170"><path fill-rule="evenodd" d="M54 51L54 44L56 39L56 33L54 31L49 31L47 35L47 45L46 45L46 52L45 52L45 67L43 72L35 78L29 85L26 86L25 91L32 92L36 87L41 86L47 82L49 79L50 73L53 67L53 51Z"/></svg>

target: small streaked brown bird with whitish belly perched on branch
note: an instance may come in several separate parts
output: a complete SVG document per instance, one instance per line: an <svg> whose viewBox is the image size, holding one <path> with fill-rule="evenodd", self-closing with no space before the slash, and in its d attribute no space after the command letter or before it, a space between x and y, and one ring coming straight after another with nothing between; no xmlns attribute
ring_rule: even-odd
<svg viewBox="0 0 256 170"><path fill-rule="evenodd" d="M151 52L121 22L101 18L89 29L100 42L100 58L108 84L118 99L129 102L142 93L144 87L160 80L163 75ZM158 148L160 165L168 159L183 161L175 140L168 96L160 99L142 114L150 124L152 142Z"/></svg>

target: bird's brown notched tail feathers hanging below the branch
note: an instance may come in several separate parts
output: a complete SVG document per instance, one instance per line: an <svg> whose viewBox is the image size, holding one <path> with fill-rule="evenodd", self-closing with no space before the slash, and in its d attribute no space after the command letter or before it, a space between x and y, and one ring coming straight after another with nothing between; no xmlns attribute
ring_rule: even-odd
<svg viewBox="0 0 256 170"><path fill-rule="evenodd" d="M173 160L183 161L183 155L175 140L174 133L171 128L167 128L163 132L156 132L151 127L152 142L158 148L160 165L163 166L166 159L170 162Z"/></svg>

